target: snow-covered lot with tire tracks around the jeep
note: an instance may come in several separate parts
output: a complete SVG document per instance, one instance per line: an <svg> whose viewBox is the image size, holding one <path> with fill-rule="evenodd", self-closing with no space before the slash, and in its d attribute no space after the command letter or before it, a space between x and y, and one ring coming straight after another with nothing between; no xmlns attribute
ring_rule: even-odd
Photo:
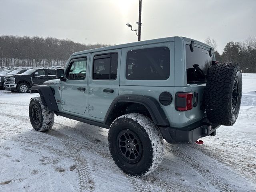
<svg viewBox="0 0 256 192"><path fill-rule="evenodd" d="M114 164L108 130L55 116L53 129L32 128L31 97L0 91L0 191L256 192L256 74L243 74L240 114L204 144L165 143L164 160L135 178Z"/></svg>

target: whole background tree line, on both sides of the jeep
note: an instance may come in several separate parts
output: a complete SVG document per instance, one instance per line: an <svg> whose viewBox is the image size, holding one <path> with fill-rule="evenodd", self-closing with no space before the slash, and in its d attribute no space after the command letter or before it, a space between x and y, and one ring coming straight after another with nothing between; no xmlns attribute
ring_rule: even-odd
<svg viewBox="0 0 256 192"><path fill-rule="evenodd" d="M204 42L214 48L219 62L237 62L244 73L256 73L256 37L244 42L228 42L220 54L214 38ZM108 44L80 44L71 40L47 37L0 36L0 67L65 66L69 56L78 51L109 46Z"/></svg>

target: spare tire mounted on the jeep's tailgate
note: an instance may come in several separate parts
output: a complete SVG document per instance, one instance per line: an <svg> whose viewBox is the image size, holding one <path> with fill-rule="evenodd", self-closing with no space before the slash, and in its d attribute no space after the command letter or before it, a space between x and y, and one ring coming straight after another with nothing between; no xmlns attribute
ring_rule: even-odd
<svg viewBox="0 0 256 192"><path fill-rule="evenodd" d="M206 115L210 122L233 125L240 110L242 74L237 63L214 64L208 70L204 92Z"/></svg>

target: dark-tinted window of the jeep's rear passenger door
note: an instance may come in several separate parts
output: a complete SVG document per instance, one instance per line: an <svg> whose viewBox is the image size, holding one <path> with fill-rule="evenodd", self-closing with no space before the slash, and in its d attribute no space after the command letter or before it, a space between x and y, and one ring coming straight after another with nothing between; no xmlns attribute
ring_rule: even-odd
<svg viewBox="0 0 256 192"><path fill-rule="evenodd" d="M94 56L94 80L115 80L117 75L118 53Z"/></svg>

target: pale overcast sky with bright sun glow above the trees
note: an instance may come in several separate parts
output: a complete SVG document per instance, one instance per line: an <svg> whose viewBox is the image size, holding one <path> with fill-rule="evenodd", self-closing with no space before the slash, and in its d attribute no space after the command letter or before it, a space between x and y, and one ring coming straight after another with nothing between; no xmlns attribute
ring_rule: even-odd
<svg viewBox="0 0 256 192"><path fill-rule="evenodd" d="M0 0L0 35L52 36L80 43L137 40L138 0ZM142 0L142 40L185 36L229 41L256 36L256 0Z"/></svg>

